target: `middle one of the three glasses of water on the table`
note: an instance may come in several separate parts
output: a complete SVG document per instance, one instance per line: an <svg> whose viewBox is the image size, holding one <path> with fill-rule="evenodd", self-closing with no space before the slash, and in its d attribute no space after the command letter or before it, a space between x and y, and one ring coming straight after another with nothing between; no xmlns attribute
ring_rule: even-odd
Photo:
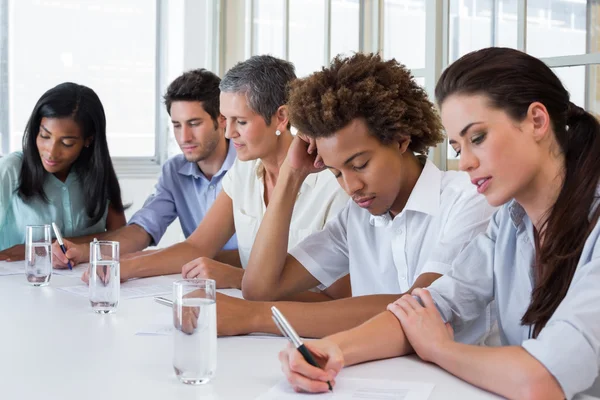
<svg viewBox="0 0 600 400"><path fill-rule="evenodd" d="M90 303L100 314L113 313L119 304L121 272L119 242L90 243Z"/></svg>

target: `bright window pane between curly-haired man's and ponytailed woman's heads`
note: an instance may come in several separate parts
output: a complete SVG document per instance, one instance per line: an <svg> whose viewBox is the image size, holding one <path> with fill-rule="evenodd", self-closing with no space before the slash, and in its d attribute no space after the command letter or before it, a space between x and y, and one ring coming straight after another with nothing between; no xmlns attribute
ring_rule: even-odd
<svg viewBox="0 0 600 400"><path fill-rule="evenodd" d="M408 68L425 67L425 0L385 0L383 55Z"/></svg>

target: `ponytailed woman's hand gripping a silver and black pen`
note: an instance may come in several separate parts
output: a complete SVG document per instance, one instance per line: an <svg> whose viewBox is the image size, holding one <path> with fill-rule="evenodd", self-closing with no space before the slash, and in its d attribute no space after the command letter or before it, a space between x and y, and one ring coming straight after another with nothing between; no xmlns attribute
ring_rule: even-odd
<svg viewBox="0 0 600 400"><path fill-rule="evenodd" d="M283 314L271 307L273 321L292 346L279 353L282 369L288 382L297 392L327 392L333 390L334 378L344 365L339 347L328 340L302 343ZM321 368L315 358L322 361Z"/></svg>

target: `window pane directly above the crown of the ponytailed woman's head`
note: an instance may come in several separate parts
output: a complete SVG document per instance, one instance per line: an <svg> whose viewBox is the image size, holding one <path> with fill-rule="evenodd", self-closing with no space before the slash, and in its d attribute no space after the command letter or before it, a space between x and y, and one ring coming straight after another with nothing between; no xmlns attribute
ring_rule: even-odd
<svg viewBox="0 0 600 400"><path fill-rule="evenodd" d="M517 1L451 0L450 62L484 47L516 48Z"/></svg>

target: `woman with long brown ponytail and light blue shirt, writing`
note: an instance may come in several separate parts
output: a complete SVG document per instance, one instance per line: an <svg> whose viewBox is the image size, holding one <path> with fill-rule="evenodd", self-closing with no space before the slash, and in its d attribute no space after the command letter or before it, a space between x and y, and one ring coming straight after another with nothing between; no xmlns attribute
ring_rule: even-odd
<svg viewBox="0 0 600 400"><path fill-rule="evenodd" d="M506 48L456 61L436 99L460 169L503 207L429 289L307 343L322 370L291 348L283 370L324 392L344 365L416 352L505 397L570 399L600 369L600 125L542 61ZM502 346L456 343L493 299Z"/></svg>

